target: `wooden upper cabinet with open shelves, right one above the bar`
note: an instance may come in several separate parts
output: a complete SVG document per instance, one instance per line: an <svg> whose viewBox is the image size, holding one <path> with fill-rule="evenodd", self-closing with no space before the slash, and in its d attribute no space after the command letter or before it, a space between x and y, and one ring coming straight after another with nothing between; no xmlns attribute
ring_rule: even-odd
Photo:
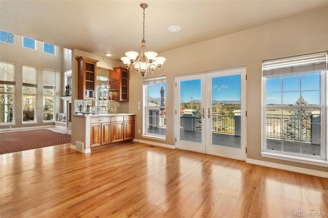
<svg viewBox="0 0 328 218"><path fill-rule="evenodd" d="M115 67L109 71L109 77L117 79L110 82L112 100L129 101L129 71L123 67Z"/></svg>

